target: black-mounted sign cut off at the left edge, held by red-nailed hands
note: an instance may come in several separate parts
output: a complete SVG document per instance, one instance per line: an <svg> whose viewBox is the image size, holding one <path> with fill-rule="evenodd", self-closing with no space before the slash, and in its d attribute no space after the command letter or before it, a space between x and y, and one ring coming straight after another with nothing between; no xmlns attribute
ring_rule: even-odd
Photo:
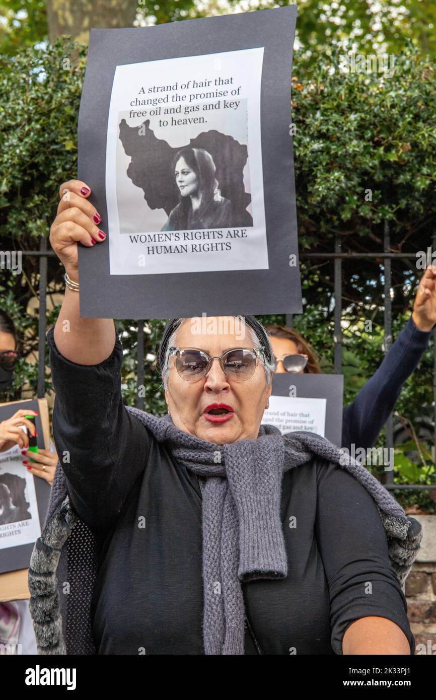
<svg viewBox="0 0 436 700"><path fill-rule="evenodd" d="M11 416L13 416L18 409L29 409L32 411L37 411L38 415L35 416L35 425L37 435L38 447L45 449L44 438L43 438L43 426L41 422L41 415L39 414L38 400L31 399L29 401L20 401L17 403L6 404L0 406L0 421L5 421ZM48 446L47 446L48 447ZM6 452L0 452L0 458L7 456L10 450ZM22 457L20 450L18 449L17 454ZM24 479L27 480L27 485L24 486ZM6 484L7 489L11 496L13 497L13 505L15 507L21 506L22 515L21 519L16 522L0 524L0 538L2 542L2 548L0 549L0 574L6 571L16 571L17 569L24 569L29 567L31 552L34 549L34 543L38 536L41 534L43 524L45 521L45 514L48 508L48 502L50 500L50 484L45 481L45 479L40 479L39 477L34 477L30 474L25 465L22 466L22 472L19 474L11 473L8 469L8 461L0 461L0 484ZM34 492L36 496L36 507L39 518L39 527L37 522L34 520L32 523L32 517L26 517L26 515L34 515L32 512L32 498L29 494L29 489L32 488L34 484ZM27 504L29 504L30 509L28 509ZM1 514L0 514L1 521ZM27 523L27 525L20 526L20 523ZM30 525L29 525L30 523ZM36 528L38 527L38 532L31 541L26 542L22 545L14 545L14 541L19 541L20 538L29 539L25 531L26 527L31 527L31 532L36 533ZM22 534L23 533L23 537ZM8 545L3 547L3 543L7 541Z"/></svg>

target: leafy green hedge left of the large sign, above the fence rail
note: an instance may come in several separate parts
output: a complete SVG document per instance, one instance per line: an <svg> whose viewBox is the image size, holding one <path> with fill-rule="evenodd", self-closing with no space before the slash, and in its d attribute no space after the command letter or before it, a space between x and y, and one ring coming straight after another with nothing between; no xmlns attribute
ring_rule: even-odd
<svg viewBox="0 0 436 700"><path fill-rule="evenodd" d="M0 57L0 236L13 249L48 235L59 186L76 169L86 53L66 39Z"/></svg>

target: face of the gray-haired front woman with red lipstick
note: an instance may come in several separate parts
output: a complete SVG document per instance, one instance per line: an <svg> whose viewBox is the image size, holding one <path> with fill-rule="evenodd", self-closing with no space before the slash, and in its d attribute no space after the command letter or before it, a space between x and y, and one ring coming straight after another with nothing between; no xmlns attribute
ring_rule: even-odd
<svg viewBox="0 0 436 700"><path fill-rule="evenodd" d="M217 323L215 325L217 326ZM209 318L207 327L213 327ZM231 325L226 324L224 327L231 328ZM239 339L239 332L236 337L209 332L202 335L192 333L192 330L197 328L192 320L187 318L177 330L177 347L197 348L206 351L210 356L222 355L230 348L253 347L253 341L247 331L244 339ZM178 374L173 358L169 361L171 368L165 399L177 428L216 444L258 437L260 421L272 391L271 384L267 387L265 370L260 360L253 376L245 381L234 381L227 377L220 360L213 360L205 377L198 381L186 381ZM206 417L208 407L216 403L223 403L232 408L230 418L223 423L214 423Z"/></svg>

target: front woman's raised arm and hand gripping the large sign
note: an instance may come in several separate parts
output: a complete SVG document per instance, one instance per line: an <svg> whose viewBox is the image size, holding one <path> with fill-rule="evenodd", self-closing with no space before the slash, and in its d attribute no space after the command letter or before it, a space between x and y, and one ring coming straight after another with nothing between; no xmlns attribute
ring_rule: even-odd
<svg viewBox="0 0 436 700"><path fill-rule="evenodd" d="M95 207L86 200L90 188L86 194L81 188L87 186L78 180L62 184L65 198L50 229L52 247L73 281L78 241L90 247L104 240ZM56 391L53 436L73 510L89 527L107 531L146 466L150 439L122 401L122 344L113 320L80 318L79 294L66 287L55 327L47 332Z"/></svg>

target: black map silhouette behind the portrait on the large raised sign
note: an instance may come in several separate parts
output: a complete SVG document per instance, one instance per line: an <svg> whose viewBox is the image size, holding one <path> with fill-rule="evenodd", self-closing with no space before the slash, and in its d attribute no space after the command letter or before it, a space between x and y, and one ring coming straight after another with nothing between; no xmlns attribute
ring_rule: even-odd
<svg viewBox="0 0 436 700"><path fill-rule="evenodd" d="M145 133L139 134L139 126L129 127L125 119L120 122L120 141L126 155L132 158L127 176L144 193L150 209L164 209L169 215L178 204L178 188L171 173L171 163L177 151L185 146L209 151L216 165L216 179L222 197L232 202L232 228L253 226L253 218L246 211L251 195L245 191L243 170L247 161L247 147L239 141L216 130L202 132L189 144L171 148L167 141L157 139L150 129L150 120L143 123ZM144 132L144 129L141 129Z"/></svg>

